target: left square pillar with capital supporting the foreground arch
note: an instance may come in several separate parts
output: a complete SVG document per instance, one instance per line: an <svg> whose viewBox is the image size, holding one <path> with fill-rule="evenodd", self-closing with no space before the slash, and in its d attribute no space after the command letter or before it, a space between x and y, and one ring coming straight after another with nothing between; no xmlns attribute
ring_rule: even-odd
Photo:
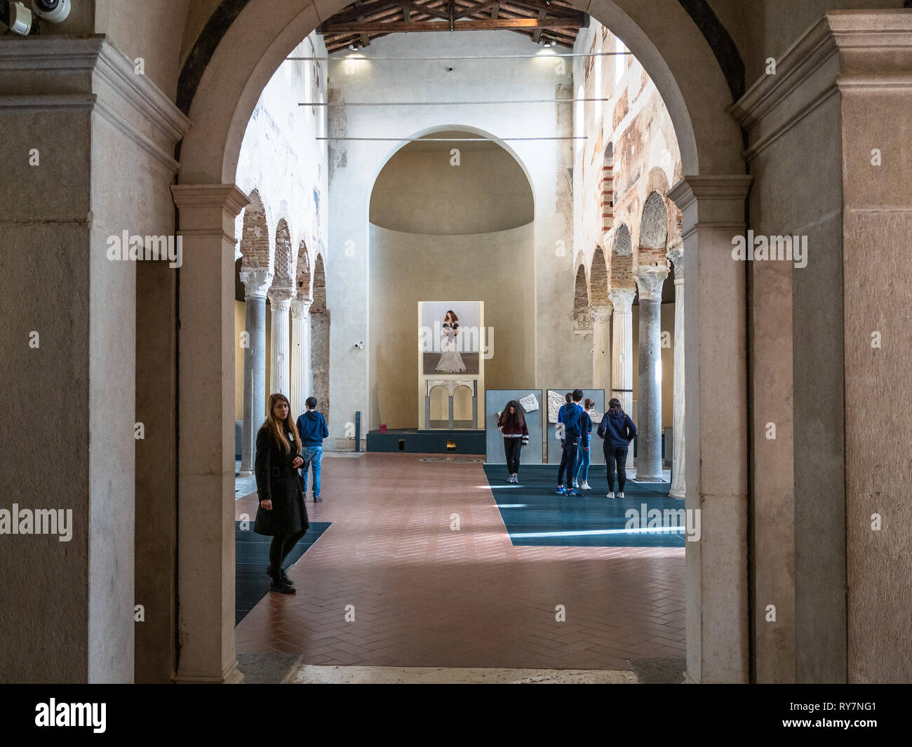
<svg viewBox="0 0 912 747"><path fill-rule="evenodd" d="M171 186L183 237L179 327L179 682L241 682L234 655L234 184ZM230 341L230 342L229 342ZM227 562L226 562L227 561Z"/></svg>

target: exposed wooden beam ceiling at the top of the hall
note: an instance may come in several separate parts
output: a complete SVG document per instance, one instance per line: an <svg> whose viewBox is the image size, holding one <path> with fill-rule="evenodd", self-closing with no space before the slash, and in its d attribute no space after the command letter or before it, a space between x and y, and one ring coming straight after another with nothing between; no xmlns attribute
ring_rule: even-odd
<svg viewBox="0 0 912 747"><path fill-rule="evenodd" d="M330 54L397 32L508 29L536 44L573 47L589 16L562 0L358 0L317 28Z"/></svg>

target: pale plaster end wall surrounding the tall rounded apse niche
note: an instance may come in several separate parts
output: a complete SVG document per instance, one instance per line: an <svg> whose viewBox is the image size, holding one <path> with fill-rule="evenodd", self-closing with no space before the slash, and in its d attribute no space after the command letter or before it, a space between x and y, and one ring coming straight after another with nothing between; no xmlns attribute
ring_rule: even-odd
<svg viewBox="0 0 912 747"><path fill-rule="evenodd" d="M535 55L535 58L371 61L374 57ZM354 57L354 56L352 56ZM558 126L557 86L571 83L567 60L512 32L394 35L376 40L358 59L329 67L330 97L338 101L491 101L551 99L548 103L447 107L345 107L330 111L333 136L405 138L430 130L472 130L499 138L569 136ZM452 70L448 68L452 67ZM337 89L334 91L333 89ZM337 99L334 99L337 100ZM471 135L469 135L471 137ZM327 306L332 312L330 397L337 413L330 435L341 437L356 410L370 411L368 356L354 343L368 339L368 202L376 176L404 141L335 141L330 149L330 235ZM454 143L454 146L458 143ZM559 146L555 140L508 140L532 184L534 222L535 379L561 361L591 378L591 358L580 358L572 331L573 226L571 206L558 201ZM346 250L347 247L347 250ZM466 278L466 297L472 296ZM462 295L466 295L462 294ZM496 331L495 331L496 336ZM369 348L368 348L369 349ZM588 372L588 373L587 373ZM574 374L575 375L575 374ZM583 380L583 379L581 379Z"/></svg>

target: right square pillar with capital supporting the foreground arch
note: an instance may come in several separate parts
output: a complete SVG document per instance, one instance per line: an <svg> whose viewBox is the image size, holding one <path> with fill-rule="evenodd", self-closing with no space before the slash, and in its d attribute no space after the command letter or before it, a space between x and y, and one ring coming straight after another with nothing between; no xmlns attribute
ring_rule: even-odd
<svg viewBox="0 0 912 747"><path fill-rule="evenodd" d="M685 508L699 511L700 538L685 543L687 670L698 682L749 677L747 301L731 237L743 234L750 184L687 176L667 195L683 215L688 278Z"/></svg>

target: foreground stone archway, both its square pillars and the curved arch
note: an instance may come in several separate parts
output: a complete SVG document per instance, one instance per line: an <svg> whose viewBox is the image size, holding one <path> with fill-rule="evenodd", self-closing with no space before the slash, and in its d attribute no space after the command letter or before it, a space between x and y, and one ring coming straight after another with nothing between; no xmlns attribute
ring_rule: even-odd
<svg viewBox="0 0 912 747"><path fill-rule="evenodd" d="M246 122L268 79L302 38L347 0L315 5L275 5L249 0L233 17L208 65L179 93L194 126L181 145L181 184L172 188L181 209L186 248L181 269L181 309L197 312L181 325L181 401L209 405L216 427L200 432L181 411L181 659L178 680L238 678L233 655L233 514L226 502L233 445L224 423L231 419L233 368L229 354L233 276L230 226L246 197L233 187ZM679 139L684 178L669 192L683 215L687 264L687 318L695 354L687 358L687 507L702 511L703 538L687 546L688 670L694 680L748 678L747 493L748 414L745 358L744 268L722 262L731 235L743 230L743 144L725 113L740 96L737 71L720 67L713 51L677 0L592 0L586 12L623 39L647 69L664 99ZM718 21L716 22L718 24ZM725 35L722 39L731 42ZM736 51L736 50L735 50ZM731 52L731 49L729 50ZM718 57L718 58L717 58ZM741 68L742 70L742 68ZM181 76L183 82L184 77ZM734 81L734 82L733 82ZM743 72L741 72L743 88ZM229 228L226 230L226 226ZM223 251L227 249L227 251ZM199 250L199 251L197 251ZM614 263L612 263L613 265ZM612 275L615 269L612 266ZM316 275L316 272L315 272ZM316 281L316 276L315 276ZM612 299L614 303L614 299ZM316 305L316 282L315 282ZM617 309L617 304L615 304ZM328 319L328 316L327 316ZM713 345L700 345L700 334ZM719 365L720 360L724 365ZM219 380L213 385L213 376ZM700 430L700 422L712 428ZM202 454L208 454L205 464ZM212 455L222 471L213 472ZM195 503L195 506L192 506ZM187 510L184 506L187 505ZM189 539L200 524L207 542ZM201 580L199 568L212 571ZM221 573L216 572L221 567ZM204 586L204 588L201 588ZM211 587L211 588L210 588Z"/></svg>

